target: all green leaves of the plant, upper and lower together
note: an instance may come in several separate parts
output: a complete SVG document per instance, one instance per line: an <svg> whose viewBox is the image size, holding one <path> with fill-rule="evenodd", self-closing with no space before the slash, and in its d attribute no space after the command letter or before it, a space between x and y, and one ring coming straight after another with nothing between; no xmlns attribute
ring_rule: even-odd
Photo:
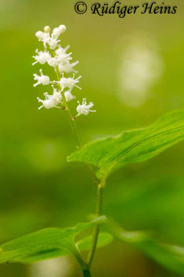
<svg viewBox="0 0 184 277"><path fill-rule="evenodd" d="M68 157L68 161L83 161L101 168L106 174L119 166L150 159L184 137L184 111L174 111L161 117L150 127L123 132L120 136L94 141ZM43 229L3 244L0 263L32 263L47 258L73 253L79 258L79 250L90 248L92 237L75 242L81 231L101 224L105 217L66 229ZM108 233L99 235L98 247L108 245L113 236L136 247L163 267L184 274L184 249L161 244L144 232L127 232L114 222L108 223ZM113 236L112 236L113 235Z"/></svg>

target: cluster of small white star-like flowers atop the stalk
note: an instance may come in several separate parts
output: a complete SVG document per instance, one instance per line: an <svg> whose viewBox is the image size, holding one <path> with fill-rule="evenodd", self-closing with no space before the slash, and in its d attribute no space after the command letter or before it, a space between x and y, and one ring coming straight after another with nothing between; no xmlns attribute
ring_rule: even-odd
<svg viewBox="0 0 184 277"><path fill-rule="evenodd" d="M45 26L44 31L39 30L36 33L36 37L39 41L43 42L43 51L36 50L36 54L34 55L35 62L32 64L45 64L47 63L49 66L54 67L54 71L56 71L58 80L50 81L49 76L43 75L42 69L40 69L40 75L34 74L34 80L37 81L34 84L34 87L37 87L38 84L48 85L52 84L52 94L48 92L43 93L45 96L45 100L41 100L37 98L39 102L41 102L41 109L45 107L45 109L51 109L53 107L57 107L59 109L65 109L65 102L69 102L76 98L72 95L72 89L77 87L81 89L77 84L79 83L79 79L75 78L76 70L74 70L74 66L79 63L79 61L71 62L72 53L67 53L70 46L62 48L59 44L59 36L61 33L64 33L66 30L65 25L60 25L57 28L54 28L51 33L51 29L49 26ZM65 73L73 73L72 77L65 78ZM57 90L54 85L56 85L59 90ZM78 106L76 107L77 114L79 116L81 114L87 115L93 107L93 103L90 102L89 105L86 102L86 99L83 98L82 105L78 101Z"/></svg>

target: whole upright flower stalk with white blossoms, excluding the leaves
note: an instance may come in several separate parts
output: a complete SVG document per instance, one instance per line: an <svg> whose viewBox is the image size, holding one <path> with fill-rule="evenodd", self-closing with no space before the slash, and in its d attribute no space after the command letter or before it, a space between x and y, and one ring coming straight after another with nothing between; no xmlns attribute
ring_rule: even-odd
<svg viewBox="0 0 184 277"><path fill-rule="evenodd" d="M68 51L68 48L70 46L67 46L65 48L62 48L61 45L59 44L59 35L61 33L64 33L66 30L65 25L60 25L57 28L54 28L51 33L51 29L49 26L45 26L44 32L38 31L36 33L36 37L39 39L39 41L43 42L43 48L44 51L39 51L38 49L36 50L37 55L34 55L34 64L45 64L47 63L49 66L52 66L54 68L54 71L57 74L57 81L51 81L49 76L43 75L42 69L40 69L40 74L37 75L36 73L34 74L34 80L37 82L34 84L34 87L37 87L37 85L42 84L44 86L48 84L52 84L52 89L53 92L52 94L49 94L48 92L43 93L45 96L45 100L41 100L40 98L37 98L39 102L42 103L42 107L45 107L45 109L51 109L53 107L59 108L61 110L67 111L68 118L70 121L70 125L72 127L72 132L74 135L74 139L76 142L76 148L80 149L81 148L81 143L79 140L79 134L76 128L76 123L75 120L78 116L84 115L87 116L90 111L91 112L96 112L95 110L92 110L91 108L93 107L93 102L89 102L87 104L86 99L83 98L83 102L80 103L78 102L78 106L76 107L76 116L72 116L72 112L70 111L70 107L68 105L68 102L70 100L73 100L76 98L76 96L72 95L72 89L74 87L81 89L77 84L79 83L79 79L81 76L78 78L75 78L75 74L77 73L76 70L74 70L74 66L79 63L79 61L70 63L72 60L72 53L67 54L66 52ZM73 72L73 78L65 78L64 73L72 73ZM57 90L54 86L57 85ZM68 90L65 90L68 89ZM103 175L103 172L101 172L101 180L99 180L96 177L96 174L94 172L93 167L88 164L87 165L88 170L90 172L90 175L92 176L92 179L94 180L94 183L97 185L97 200L96 200L96 217L99 217L102 212L102 205L103 205L103 188L105 186L105 178ZM79 251L78 247L74 247L72 249L74 255L76 256L76 259L79 262L79 265L81 266L81 269L83 271L83 276L85 277L90 277L90 267L92 265L92 260L94 258L94 253L96 251L96 245L98 242L99 238L99 231L100 231L100 226L97 224L94 226L94 231L92 235L92 244L90 247L90 251L88 254L88 262L85 262L83 259L83 256L81 252Z"/></svg>

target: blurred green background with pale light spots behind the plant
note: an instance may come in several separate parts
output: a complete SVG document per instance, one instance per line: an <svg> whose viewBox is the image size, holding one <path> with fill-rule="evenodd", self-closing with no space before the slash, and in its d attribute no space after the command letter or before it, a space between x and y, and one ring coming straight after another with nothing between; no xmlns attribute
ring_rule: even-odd
<svg viewBox="0 0 184 277"><path fill-rule="evenodd" d="M78 100L86 97L94 102L97 110L77 119L82 143L150 125L161 114L183 108L183 1L167 1L167 5L177 4L176 15L137 14L124 19L91 15L90 8L85 15L77 15L74 3L0 2L0 242L43 227L72 226L94 212L96 188L88 171L82 164L66 162L74 151L74 139L65 112L37 109L37 96L42 98L45 91L43 86L32 86L32 74L40 68L31 65L35 49L41 46L34 36L37 30L60 24L68 28L61 44L70 44L83 76L83 89L74 89L74 94ZM55 78L48 66L42 68ZM75 113L76 100L71 108ZM183 145L114 172L105 189L105 215L127 230L151 230L163 242L183 245ZM1 265L0 276L81 276L74 258L55 262L45 264L46 272L39 264ZM57 265L61 269L48 275L48 267ZM122 242L96 251L92 274L178 276Z"/></svg>

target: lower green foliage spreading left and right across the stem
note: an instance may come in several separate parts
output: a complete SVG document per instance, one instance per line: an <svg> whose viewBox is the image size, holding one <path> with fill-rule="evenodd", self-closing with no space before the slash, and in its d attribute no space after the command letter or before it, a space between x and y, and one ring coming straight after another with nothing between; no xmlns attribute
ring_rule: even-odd
<svg viewBox="0 0 184 277"><path fill-rule="evenodd" d="M163 265L163 267L184 274L183 247L161 244L142 231L125 231L112 221L106 222L104 216L98 217L92 222L77 224L72 228L43 229L7 242L1 245L0 263L33 263L48 258L65 256L70 253L76 256L77 247L81 251L88 250L92 240L90 236L79 242L74 242L76 235L94 226L94 224L104 222L108 226L108 233L100 233L97 247L104 247L110 244L115 237L132 245L132 247L136 247L136 249L139 249L152 260Z"/></svg>

